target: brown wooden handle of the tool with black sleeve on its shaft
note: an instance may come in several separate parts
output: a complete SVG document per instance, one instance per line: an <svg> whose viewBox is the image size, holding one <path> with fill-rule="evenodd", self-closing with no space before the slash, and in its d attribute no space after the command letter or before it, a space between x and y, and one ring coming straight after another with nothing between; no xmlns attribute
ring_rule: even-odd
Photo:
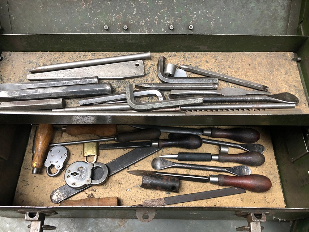
<svg viewBox="0 0 309 232"><path fill-rule="evenodd" d="M260 166L265 162L265 156L258 152L244 152L240 154L219 154L219 162L234 162L248 166Z"/></svg>

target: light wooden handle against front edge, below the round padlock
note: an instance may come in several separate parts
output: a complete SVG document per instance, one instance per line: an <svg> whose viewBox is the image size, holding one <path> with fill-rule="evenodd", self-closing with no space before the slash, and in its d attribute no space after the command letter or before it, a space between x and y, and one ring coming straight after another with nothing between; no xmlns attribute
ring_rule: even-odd
<svg viewBox="0 0 309 232"><path fill-rule="evenodd" d="M64 200L59 206L118 206L118 197L86 198L80 200Z"/></svg>

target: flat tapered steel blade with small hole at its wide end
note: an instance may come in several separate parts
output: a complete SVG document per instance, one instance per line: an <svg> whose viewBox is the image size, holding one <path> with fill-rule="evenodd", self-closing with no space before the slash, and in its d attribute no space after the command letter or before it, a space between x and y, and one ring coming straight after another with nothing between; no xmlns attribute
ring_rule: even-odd
<svg viewBox="0 0 309 232"><path fill-rule="evenodd" d="M128 79L145 75L144 62L127 61L121 63L103 64L91 67L71 68L66 70L33 73L27 75L28 80L51 80L76 78L84 76L98 76L99 79Z"/></svg>

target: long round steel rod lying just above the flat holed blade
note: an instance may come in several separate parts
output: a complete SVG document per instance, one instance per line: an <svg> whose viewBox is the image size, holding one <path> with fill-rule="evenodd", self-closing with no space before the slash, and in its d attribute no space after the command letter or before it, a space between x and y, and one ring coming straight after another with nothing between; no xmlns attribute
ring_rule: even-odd
<svg viewBox="0 0 309 232"><path fill-rule="evenodd" d="M73 62L66 62L66 63L59 63L59 64L44 65L40 67L31 68L28 70L28 72L31 72L31 73L48 72L48 71L62 70L62 69L68 69L68 68L88 67L88 66L94 66L94 65L119 63L119 62L125 62L125 61L133 61L133 60L144 60L144 59L150 59L150 58L151 58L150 52L144 52L144 53L138 53L138 54L123 55L123 56L113 56L113 57L105 57L105 58L97 58L97 59L90 59L90 60L81 60L81 61L73 61Z"/></svg>

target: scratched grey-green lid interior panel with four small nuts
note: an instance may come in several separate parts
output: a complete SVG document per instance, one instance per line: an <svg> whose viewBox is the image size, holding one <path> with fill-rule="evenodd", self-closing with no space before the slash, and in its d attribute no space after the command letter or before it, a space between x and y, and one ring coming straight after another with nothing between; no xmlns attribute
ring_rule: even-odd
<svg viewBox="0 0 309 232"><path fill-rule="evenodd" d="M291 1L8 0L18 33L286 34ZM34 13L35 12L35 13ZM170 25L174 26L171 31ZM188 26L192 24L193 30ZM108 30L104 30L107 25ZM124 30L123 26L128 29Z"/></svg>

